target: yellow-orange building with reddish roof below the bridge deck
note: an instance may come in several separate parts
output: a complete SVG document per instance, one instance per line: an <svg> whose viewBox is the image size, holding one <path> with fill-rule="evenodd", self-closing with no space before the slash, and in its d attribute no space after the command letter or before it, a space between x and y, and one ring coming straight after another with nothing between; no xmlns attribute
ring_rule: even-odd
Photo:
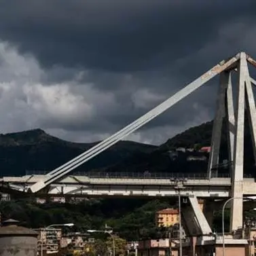
<svg viewBox="0 0 256 256"><path fill-rule="evenodd" d="M156 212L156 225L158 227L170 227L179 223L179 210L175 208L166 208Z"/></svg>

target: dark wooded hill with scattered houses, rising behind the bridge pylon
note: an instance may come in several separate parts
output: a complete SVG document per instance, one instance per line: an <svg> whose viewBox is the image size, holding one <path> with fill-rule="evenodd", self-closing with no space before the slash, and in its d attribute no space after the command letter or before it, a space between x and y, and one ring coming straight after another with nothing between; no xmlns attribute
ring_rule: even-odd
<svg viewBox="0 0 256 256"><path fill-rule="evenodd" d="M117 172L126 169L127 172L172 172L186 173L187 175L204 174L208 166L208 153L197 151L180 151L177 158L173 158L173 152L177 148L194 149L195 147L206 147L211 145L213 121L195 126L168 139L158 149L149 153L139 153L132 158L107 168L108 172ZM191 160L193 159L193 160ZM198 160L195 160L198 159ZM227 128L223 124L221 132L221 147L219 162L228 159L227 151ZM219 170L219 173L227 173L228 169ZM254 175L255 165L253 159L253 145L247 118L244 129L244 173Z"/></svg>

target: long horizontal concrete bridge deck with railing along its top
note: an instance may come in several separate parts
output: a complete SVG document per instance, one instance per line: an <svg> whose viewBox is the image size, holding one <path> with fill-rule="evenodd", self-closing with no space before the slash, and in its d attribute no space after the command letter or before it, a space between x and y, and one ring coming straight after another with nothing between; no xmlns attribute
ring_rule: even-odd
<svg viewBox="0 0 256 256"><path fill-rule="evenodd" d="M181 175L179 175L181 177ZM25 175L23 177L3 177L0 179L2 187L18 191L27 191L29 186L45 179L43 175ZM176 179L173 175L135 176L113 174L70 175L54 182L47 191L54 195L74 195L79 197L96 196L177 196L177 181L183 183L181 196L194 195L200 198L227 198L231 195L231 180L228 177L205 179L204 177L187 177ZM45 194L45 191L41 192ZM39 192L40 194L40 192ZM243 181L244 196L256 195L254 179Z"/></svg>

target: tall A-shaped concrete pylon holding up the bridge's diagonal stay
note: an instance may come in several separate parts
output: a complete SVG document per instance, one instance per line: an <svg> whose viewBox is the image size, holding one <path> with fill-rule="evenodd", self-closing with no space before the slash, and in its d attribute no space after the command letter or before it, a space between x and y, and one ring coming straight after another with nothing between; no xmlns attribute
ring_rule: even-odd
<svg viewBox="0 0 256 256"><path fill-rule="evenodd" d="M256 109L252 84L255 80L249 75L248 62L255 66L255 61L244 52L240 52L240 58L232 69L226 69L220 74L219 95L217 98L217 110L213 122L213 136L211 141L211 153L208 162L207 175L209 179L215 177L219 164L219 147L221 143L221 128L223 121L227 122L227 141L232 177L232 200L230 229L237 230L242 227L242 197L244 176L244 113L248 116L251 140L253 143L254 160L256 163L255 139L256 139ZM232 84L232 75L238 75L238 84ZM234 100L234 95L236 98ZM234 107L234 103L236 107Z"/></svg>

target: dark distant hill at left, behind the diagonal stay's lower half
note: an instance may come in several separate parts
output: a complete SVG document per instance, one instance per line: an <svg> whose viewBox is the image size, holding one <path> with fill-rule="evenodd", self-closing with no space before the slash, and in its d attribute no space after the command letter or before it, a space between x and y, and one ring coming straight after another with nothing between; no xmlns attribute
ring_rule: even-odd
<svg viewBox="0 0 256 256"><path fill-rule="evenodd" d="M63 141L41 129L0 134L1 176L24 175L26 170L52 170L90 149L96 143ZM150 153L156 146L120 141L77 170L105 168L136 153Z"/></svg>

